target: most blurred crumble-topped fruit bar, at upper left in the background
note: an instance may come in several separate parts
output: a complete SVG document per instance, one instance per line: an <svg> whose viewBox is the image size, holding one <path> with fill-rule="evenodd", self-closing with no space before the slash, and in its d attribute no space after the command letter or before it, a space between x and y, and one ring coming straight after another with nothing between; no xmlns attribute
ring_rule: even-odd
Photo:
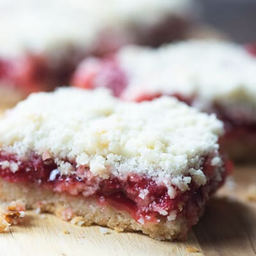
<svg viewBox="0 0 256 256"><path fill-rule="evenodd" d="M127 43L158 45L182 38L192 3L2 0L0 104L67 84L88 54L104 54Z"/></svg>

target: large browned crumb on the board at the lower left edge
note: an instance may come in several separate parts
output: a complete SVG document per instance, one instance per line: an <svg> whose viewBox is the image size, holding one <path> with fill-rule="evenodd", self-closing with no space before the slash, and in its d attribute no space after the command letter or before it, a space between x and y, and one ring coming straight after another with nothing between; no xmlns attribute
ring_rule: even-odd
<svg viewBox="0 0 256 256"><path fill-rule="evenodd" d="M13 201L0 212L0 232L4 232L11 225L19 225L25 217L26 207L20 200Z"/></svg>

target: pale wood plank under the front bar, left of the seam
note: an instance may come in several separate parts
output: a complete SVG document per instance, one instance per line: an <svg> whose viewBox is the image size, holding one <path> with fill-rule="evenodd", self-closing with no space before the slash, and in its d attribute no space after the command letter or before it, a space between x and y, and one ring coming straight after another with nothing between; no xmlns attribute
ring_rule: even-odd
<svg viewBox="0 0 256 256"><path fill-rule="evenodd" d="M188 241L168 243L141 234L102 234L99 227L76 227L46 214L29 212L24 225L0 234L1 255L203 255L189 253L188 246L200 248L194 234ZM68 230L70 234L64 234Z"/></svg>

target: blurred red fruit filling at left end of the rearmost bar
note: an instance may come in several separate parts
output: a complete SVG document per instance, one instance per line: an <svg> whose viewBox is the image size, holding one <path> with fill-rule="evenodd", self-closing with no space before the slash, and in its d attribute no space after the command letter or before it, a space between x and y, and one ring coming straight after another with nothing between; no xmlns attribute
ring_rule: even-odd
<svg viewBox="0 0 256 256"><path fill-rule="evenodd" d="M74 67L74 63L66 60L51 67L44 56L0 59L0 83L12 86L24 95L49 91L55 86L66 84L74 72Z"/></svg>

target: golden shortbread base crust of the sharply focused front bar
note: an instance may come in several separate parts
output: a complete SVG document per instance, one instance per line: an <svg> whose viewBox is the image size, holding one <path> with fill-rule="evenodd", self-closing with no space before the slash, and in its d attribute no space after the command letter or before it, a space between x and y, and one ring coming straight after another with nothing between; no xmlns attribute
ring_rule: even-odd
<svg viewBox="0 0 256 256"><path fill-rule="evenodd" d="M113 207L102 207L93 198L80 198L53 193L37 185L13 184L0 179L0 198L10 202L19 198L27 209L40 209L52 212L63 220L76 225L102 225L120 231L141 231L157 240L184 239L188 231L183 217L173 221L161 221L154 225L141 225L124 211ZM202 209L203 211L204 209Z"/></svg>

